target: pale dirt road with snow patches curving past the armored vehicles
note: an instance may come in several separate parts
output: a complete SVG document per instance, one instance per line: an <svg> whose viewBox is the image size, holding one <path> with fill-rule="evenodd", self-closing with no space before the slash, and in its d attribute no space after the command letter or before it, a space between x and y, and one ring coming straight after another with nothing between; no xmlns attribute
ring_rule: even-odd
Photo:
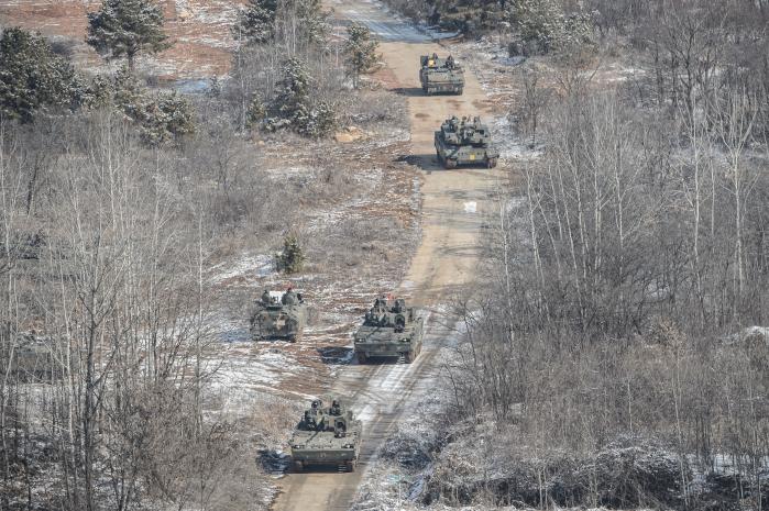
<svg viewBox="0 0 769 511"><path fill-rule="evenodd" d="M393 431L406 402L435 382L435 359L453 335L440 316L440 306L474 279L479 233L488 211L499 170L460 168L444 170L436 160L432 133L449 115L488 115L482 109L486 96L465 70L462 96L425 97L418 79L419 56L446 53L439 44L413 26L391 18L366 0L329 2L337 16L365 23L377 34L381 52L394 75L395 86L408 97L413 160L422 171L422 238L400 291L432 311L421 355L411 365L351 365L341 374L334 391L347 398L363 421L364 436L358 469L351 474L288 474L281 480L274 511L347 511L377 448ZM466 67L465 67L466 69Z"/></svg>

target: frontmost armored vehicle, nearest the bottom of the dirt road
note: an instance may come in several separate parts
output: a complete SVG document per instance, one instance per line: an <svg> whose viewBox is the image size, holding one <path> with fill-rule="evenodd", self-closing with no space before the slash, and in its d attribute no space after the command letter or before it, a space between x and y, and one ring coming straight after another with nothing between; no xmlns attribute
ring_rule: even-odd
<svg viewBox="0 0 769 511"><path fill-rule="evenodd" d="M289 442L294 470L308 465L336 465L352 471L361 449L363 425L352 412L334 399L325 407L319 399L305 410Z"/></svg>

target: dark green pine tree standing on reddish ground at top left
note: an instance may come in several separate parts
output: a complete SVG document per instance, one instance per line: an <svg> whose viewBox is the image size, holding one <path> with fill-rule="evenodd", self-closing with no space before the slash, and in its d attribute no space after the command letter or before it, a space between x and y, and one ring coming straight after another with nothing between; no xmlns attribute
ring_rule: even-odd
<svg viewBox="0 0 769 511"><path fill-rule="evenodd" d="M171 47L163 22L163 11L150 0L103 0L88 13L86 42L108 60L124 56L133 73L136 55Z"/></svg>

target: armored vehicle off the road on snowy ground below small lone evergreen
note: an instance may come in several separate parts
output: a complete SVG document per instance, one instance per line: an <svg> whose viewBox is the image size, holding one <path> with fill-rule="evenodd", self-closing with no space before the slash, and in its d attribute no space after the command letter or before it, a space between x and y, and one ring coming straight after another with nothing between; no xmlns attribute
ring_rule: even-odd
<svg viewBox="0 0 769 511"><path fill-rule="evenodd" d="M286 292L264 290L251 313L251 337L287 338L292 343L301 338L307 323L307 306L301 293L288 288Z"/></svg>

